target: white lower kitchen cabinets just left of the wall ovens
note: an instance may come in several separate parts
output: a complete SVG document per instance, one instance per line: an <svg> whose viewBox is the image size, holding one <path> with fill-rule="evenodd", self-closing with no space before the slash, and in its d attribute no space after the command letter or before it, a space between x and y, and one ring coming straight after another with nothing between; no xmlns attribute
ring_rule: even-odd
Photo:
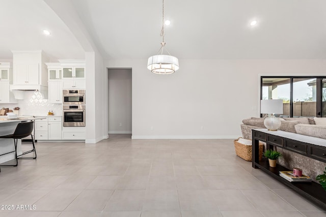
<svg viewBox="0 0 326 217"><path fill-rule="evenodd" d="M62 120L61 117L44 117L35 120L36 140L61 140Z"/></svg>

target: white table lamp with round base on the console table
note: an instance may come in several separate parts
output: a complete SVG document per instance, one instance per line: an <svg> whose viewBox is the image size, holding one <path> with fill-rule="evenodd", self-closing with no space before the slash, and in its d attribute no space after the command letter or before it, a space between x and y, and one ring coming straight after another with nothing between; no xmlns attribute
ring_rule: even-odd
<svg viewBox="0 0 326 217"><path fill-rule="evenodd" d="M281 120L274 114L283 114L283 100L261 100L260 113L268 114L264 125L269 131L277 131L281 127Z"/></svg>

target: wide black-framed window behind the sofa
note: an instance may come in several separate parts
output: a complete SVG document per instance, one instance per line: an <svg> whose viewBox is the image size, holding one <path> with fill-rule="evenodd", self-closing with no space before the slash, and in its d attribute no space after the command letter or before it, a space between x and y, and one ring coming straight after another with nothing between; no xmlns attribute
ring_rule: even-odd
<svg viewBox="0 0 326 217"><path fill-rule="evenodd" d="M285 117L326 117L326 77L262 76L260 99L282 99Z"/></svg>

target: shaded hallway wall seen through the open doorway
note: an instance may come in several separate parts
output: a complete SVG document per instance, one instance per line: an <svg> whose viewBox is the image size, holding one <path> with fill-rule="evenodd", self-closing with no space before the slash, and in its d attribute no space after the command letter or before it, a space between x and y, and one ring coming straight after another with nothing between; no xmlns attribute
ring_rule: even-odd
<svg viewBox="0 0 326 217"><path fill-rule="evenodd" d="M131 69L108 69L108 133L131 133Z"/></svg>

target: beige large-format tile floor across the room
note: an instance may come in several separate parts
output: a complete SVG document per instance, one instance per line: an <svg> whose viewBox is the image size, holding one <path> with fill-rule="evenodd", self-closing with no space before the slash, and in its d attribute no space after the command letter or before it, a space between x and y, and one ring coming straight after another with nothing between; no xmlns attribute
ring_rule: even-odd
<svg viewBox="0 0 326 217"><path fill-rule="evenodd" d="M37 160L1 167L1 217L326 216L236 157L231 139L110 135L97 144L37 143L36 148Z"/></svg>

